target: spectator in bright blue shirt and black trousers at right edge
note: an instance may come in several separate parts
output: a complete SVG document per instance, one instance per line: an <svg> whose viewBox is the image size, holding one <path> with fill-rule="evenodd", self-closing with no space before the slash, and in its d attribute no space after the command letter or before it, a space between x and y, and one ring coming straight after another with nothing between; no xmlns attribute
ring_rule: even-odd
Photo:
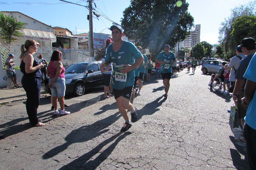
<svg viewBox="0 0 256 170"><path fill-rule="evenodd" d="M256 169L256 54L245 72L244 78L247 79L244 91L243 104L247 113L244 124L244 137L246 140L246 152L250 170Z"/></svg>

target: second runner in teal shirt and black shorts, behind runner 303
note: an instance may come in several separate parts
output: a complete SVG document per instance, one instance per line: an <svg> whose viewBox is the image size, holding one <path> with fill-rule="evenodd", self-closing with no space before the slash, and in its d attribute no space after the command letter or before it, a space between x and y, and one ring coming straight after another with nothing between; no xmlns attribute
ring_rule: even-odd
<svg viewBox="0 0 256 170"><path fill-rule="evenodd" d="M163 84L165 87L165 95L164 97L167 98L168 91L170 87L170 79L171 79L171 65L174 64L176 61L176 57L174 53L170 52L170 46L164 45L164 51L160 52L156 58L156 62L161 64L161 75L163 79Z"/></svg>

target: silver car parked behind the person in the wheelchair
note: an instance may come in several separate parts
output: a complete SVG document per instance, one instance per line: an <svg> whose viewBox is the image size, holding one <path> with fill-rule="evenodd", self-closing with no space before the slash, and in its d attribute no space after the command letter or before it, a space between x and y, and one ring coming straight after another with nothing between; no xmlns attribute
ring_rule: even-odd
<svg viewBox="0 0 256 170"><path fill-rule="evenodd" d="M218 70L222 67L222 63L226 61L222 60L208 60L205 63L203 63L203 66L201 68L201 71L203 74L207 73L217 73ZM228 64L228 62L226 62Z"/></svg>

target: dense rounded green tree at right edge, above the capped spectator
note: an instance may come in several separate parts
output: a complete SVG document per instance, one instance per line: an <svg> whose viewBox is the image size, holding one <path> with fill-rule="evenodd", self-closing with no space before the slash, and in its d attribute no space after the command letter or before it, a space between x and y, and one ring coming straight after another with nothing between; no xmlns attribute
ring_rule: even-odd
<svg viewBox="0 0 256 170"><path fill-rule="evenodd" d="M232 24L233 30L231 35L234 36L236 44L240 44L241 40L246 37L256 38L256 16L241 16L235 19Z"/></svg>

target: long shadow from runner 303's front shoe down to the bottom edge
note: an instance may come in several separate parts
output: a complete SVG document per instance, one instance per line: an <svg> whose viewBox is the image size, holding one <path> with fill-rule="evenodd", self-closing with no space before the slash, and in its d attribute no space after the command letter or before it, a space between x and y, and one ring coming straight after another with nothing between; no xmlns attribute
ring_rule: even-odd
<svg viewBox="0 0 256 170"><path fill-rule="evenodd" d="M96 169L108 156L114 151L116 145L124 139L126 136L130 135L131 132L125 132L124 134L118 133L110 138L106 139L105 141L101 142L99 145L94 147L91 151L87 152L86 154L82 155L81 157L73 160L71 163L62 166L59 170L69 170L69 169L88 169L94 170ZM116 139L117 138L117 139ZM116 140L115 140L116 139ZM115 140L115 142L113 142ZM108 145L110 142L113 142L110 146L108 146L104 151L102 148ZM102 151L102 152L100 152ZM100 153L95 159L90 160L93 158L94 155ZM88 161L89 160L89 161Z"/></svg>

